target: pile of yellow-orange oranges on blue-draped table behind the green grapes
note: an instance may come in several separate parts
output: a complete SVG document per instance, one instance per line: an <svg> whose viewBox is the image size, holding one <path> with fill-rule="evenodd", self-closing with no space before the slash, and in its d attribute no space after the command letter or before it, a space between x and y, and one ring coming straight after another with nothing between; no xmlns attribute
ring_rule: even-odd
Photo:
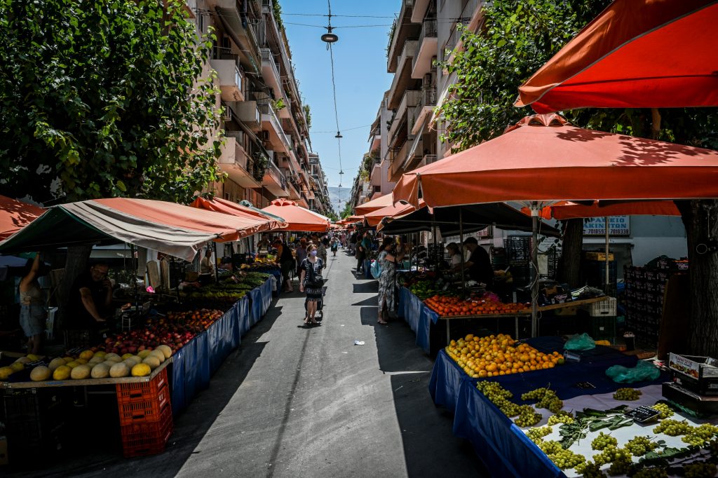
<svg viewBox="0 0 718 478"><path fill-rule="evenodd" d="M559 352L538 352L531 345L516 342L506 334L488 337L468 334L452 340L445 350L472 378L544 370L564 363Z"/></svg>

